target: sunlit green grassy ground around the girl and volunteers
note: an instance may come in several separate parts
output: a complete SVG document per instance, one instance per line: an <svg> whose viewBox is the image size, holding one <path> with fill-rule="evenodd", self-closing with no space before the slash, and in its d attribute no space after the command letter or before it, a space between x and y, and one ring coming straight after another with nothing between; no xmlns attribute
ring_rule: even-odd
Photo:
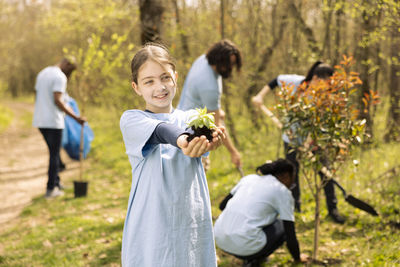
<svg viewBox="0 0 400 267"><path fill-rule="evenodd" d="M384 110L378 110L377 137L384 129ZM119 131L119 115L106 110L88 114L95 133L90 167L85 169L89 194L75 199L72 181L66 195L48 201L37 198L14 223L0 231L0 266L119 266L123 222L130 190L131 170ZM283 156L280 133L267 124L248 130L249 122L236 121L244 172L254 172L267 159ZM347 217L344 225L326 218L322 206L318 258L327 266L400 266L400 144L377 142L356 151L357 169L351 164L341 173L341 183L349 191L372 204L380 217L372 217L346 204L338 192L339 207ZM211 154L208 182L213 217L218 204L240 179L225 148ZM381 175L384 174L385 175ZM322 200L324 198L322 197ZM314 204L302 184L303 211L296 214L301 250L311 255ZM221 267L241 266L241 262L218 250ZM274 253L265 266L290 266L286 248ZM318 266L309 264L309 266Z"/></svg>

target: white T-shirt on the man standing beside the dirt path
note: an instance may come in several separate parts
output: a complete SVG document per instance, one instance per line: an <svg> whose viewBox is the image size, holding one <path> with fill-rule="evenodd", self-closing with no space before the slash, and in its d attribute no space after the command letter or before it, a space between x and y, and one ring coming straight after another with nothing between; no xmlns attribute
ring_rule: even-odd
<svg viewBox="0 0 400 267"><path fill-rule="evenodd" d="M54 93L65 93L67 77L57 66L49 66L39 72L36 78L35 112L33 126L38 128L64 128L64 112L55 101Z"/></svg>

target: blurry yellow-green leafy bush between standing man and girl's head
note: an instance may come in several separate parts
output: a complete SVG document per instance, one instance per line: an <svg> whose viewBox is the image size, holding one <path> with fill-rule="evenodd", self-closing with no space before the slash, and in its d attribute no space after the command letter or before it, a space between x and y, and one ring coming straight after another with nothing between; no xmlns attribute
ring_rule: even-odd
<svg viewBox="0 0 400 267"><path fill-rule="evenodd" d="M87 45L76 50L64 48L64 53L77 59L79 70L73 76L72 92L82 103L101 103L121 109L127 104L129 68L127 54L133 44L127 43L127 34L91 34Z"/></svg>

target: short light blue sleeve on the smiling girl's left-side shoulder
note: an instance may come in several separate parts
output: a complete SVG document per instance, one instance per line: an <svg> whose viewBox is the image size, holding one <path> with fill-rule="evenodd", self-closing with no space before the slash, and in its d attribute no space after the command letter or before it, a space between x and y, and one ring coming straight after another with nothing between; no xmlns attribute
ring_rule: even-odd
<svg viewBox="0 0 400 267"><path fill-rule="evenodd" d="M125 111L121 116L120 128L126 153L134 157L145 157L155 147L155 145L149 146L146 143L161 122L146 116L143 111Z"/></svg>

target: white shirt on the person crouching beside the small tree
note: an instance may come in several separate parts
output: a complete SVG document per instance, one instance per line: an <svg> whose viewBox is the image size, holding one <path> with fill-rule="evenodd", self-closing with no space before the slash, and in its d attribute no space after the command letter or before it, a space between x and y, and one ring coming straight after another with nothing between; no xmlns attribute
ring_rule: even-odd
<svg viewBox="0 0 400 267"><path fill-rule="evenodd" d="M265 225L272 224L278 215L294 220L291 192L272 175L248 175L231 194L214 225L217 245L229 253L256 253L266 242Z"/></svg>

